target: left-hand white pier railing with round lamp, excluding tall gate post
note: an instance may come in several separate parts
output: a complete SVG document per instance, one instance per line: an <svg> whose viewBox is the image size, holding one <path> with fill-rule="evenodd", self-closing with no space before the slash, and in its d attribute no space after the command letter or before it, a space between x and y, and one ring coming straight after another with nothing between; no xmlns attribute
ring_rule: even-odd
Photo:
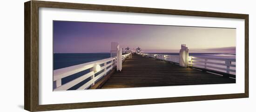
<svg viewBox="0 0 256 112"><path fill-rule="evenodd" d="M130 54L131 53L122 55L122 61L127 59L127 57ZM84 64L79 64L75 66L69 66L69 67L54 70L54 77L53 77L53 82L55 85L54 91L68 90L69 88L77 85L78 83L84 81L85 79L90 78L88 82L86 82L84 85L78 88L78 90L87 89L88 87L93 86L97 80L101 79L115 66L116 66L116 57L112 57L112 58L101 59L97 61L92 61ZM61 79L85 70L89 70L89 72L63 85L61 84ZM98 72L101 72L101 73L95 76L95 74Z"/></svg>

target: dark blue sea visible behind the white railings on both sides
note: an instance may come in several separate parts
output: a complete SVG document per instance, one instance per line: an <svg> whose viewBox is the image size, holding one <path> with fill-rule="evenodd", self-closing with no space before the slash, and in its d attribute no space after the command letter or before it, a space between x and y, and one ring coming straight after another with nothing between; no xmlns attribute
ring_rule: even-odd
<svg viewBox="0 0 256 112"><path fill-rule="evenodd" d="M154 53L179 55L179 53ZM53 53L54 70L91 61L110 58L110 53ZM189 56L212 59L236 59L236 53L189 53Z"/></svg>

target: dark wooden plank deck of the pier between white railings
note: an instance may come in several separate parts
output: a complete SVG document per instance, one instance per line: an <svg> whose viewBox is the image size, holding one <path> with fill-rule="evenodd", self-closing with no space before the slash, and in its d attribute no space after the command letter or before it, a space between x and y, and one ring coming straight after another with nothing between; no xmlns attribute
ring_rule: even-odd
<svg viewBox="0 0 256 112"><path fill-rule="evenodd" d="M236 79L185 68L167 61L134 54L122 64L121 72L114 72L101 88L181 86L236 83Z"/></svg>

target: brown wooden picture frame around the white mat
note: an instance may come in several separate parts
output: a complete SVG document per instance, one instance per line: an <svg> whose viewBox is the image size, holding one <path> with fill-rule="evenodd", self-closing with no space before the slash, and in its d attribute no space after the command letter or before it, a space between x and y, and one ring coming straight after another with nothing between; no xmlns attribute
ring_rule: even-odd
<svg viewBox="0 0 256 112"><path fill-rule="evenodd" d="M157 104L157 103L171 103L171 102L185 102L185 101L215 100L215 99L235 99L235 98L249 97L249 15L248 14L214 13L214 12L157 9L157 8L143 8L143 7L121 7L121 6L92 5L92 4L50 2L50 1L36 1L36 0L25 2L24 5L25 5L24 7L24 12L25 12L25 15L24 15L24 18L25 18L24 19L24 27L25 27L25 31L24 31L24 37L25 37L24 108L27 111L31 111L31 112L52 111L52 110L64 110L64 109L80 109L80 108L123 106L123 105L142 105L142 104ZM244 28L245 28L244 88L245 90L244 90L244 93L39 105L39 7L244 19L245 20L245 23L244 23Z"/></svg>

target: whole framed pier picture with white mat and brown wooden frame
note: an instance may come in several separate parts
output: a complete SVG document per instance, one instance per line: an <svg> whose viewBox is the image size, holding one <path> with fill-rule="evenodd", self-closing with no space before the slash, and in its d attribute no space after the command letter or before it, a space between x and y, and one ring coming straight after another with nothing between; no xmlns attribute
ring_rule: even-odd
<svg viewBox="0 0 256 112"><path fill-rule="evenodd" d="M249 97L249 15L25 2L24 108Z"/></svg>

